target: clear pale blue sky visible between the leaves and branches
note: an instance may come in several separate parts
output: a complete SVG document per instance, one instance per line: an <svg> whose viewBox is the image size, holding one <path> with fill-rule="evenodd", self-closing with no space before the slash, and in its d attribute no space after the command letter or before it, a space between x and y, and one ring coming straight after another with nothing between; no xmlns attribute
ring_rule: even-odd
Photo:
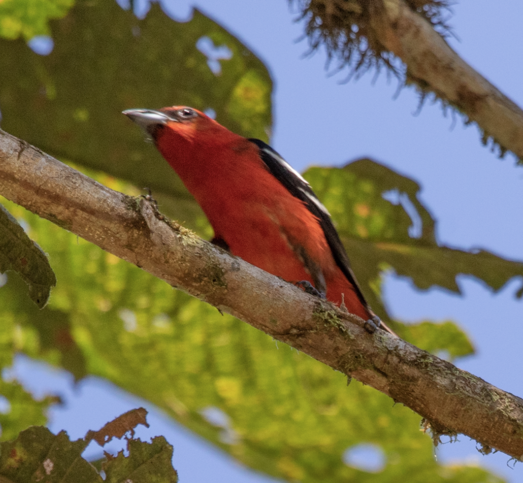
<svg viewBox="0 0 523 483"><path fill-rule="evenodd" d="M268 66L275 81L272 146L299 171L310 165L343 165L370 156L422 185L420 199L437 219L438 241L461 249L481 247L523 260L523 167L510 156L498 160L480 142L474 126L442 114L427 103L419 114L418 96L397 81L373 73L342 83L347 72L328 76L325 54L303 58L306 41L297 42L302 25L286 0L173 0L164 8L188 19L194 5L242 39ZM523 4L516 0L462 0L449 23L459 41L452 47L502 92L523 105ZM488 382L522 396L521 341L523 301L514 299L522 280L499 293L471 277L458 279L464 296L443 290L420 292L406 279L386 277L385 299L402 320L452 319L473 340L477 355L458 365ZM82 437L141 402L95 378L73 388L69 376L19 357L13 373L37 391L61 392L64 408L51 413L53 430ZM137 402L138 401L138 402ZM142 402L143 403L143 402ZM147 405L150 407L150 405ZM210 445L156 411L142 434L164 434L175 446L174 464L184 483L271 481L241 468ZM510 482L523 479L523 465L507 466L503 454L482 456L465 436L440 446L441 462L467 461L491 468ZM89 449L89 451L97 451Z"/></svg>

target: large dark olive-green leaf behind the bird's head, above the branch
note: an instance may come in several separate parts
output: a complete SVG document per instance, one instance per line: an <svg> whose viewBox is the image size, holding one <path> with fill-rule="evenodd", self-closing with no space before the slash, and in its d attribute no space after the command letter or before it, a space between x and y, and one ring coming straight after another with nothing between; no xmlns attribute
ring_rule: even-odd
<svg viewBox="0 0 523 483"><path fill-rule="evenodd" d="M78 0L51 30L54 50L45 57L21 40L0 39L2 129L61 159L152 188L167 215L195 223L202 212L122 110L212 108L231 130L268 140L272 82L265 65L198 10L179 23L153 3L140 20L113 0ZM232 53L220 61L219 75L196 47L203 37Z"/></svg>

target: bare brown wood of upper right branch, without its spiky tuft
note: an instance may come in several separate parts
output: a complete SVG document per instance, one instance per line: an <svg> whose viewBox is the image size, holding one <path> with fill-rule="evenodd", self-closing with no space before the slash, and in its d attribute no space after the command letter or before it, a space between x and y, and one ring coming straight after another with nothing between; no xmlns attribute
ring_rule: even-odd
<svg viewBox="0 0 523 483"><path fill-rule="evenodd" d="M407 65L407 82L457 107L502 150L523 159L523 110L454 52L404 0L384 0L380 40Z"/></svg>

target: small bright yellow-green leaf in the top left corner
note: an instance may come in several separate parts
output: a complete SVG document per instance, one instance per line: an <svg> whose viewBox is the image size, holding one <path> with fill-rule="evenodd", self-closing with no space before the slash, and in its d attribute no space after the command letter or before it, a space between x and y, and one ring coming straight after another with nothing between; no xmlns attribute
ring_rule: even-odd
<svg viewBox="0 0 523 483"><path fill-rule="evenodd" d="M74 0L3 0L0 2L0 37L29 40L49 35L48 22L62 18Z"/></svg>

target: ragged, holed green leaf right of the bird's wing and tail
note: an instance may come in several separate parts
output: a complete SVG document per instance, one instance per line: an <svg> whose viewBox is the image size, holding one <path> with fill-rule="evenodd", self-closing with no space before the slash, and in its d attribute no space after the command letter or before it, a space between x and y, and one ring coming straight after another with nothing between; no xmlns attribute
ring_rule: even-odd
<svg viewBox="0 0 523 483"><path fill-rule="evenodd" d="M472 275L498 290L510 278L523 275L523 263L482 250L466 252L438 245L436 221L417 198L419 185L370 159L340 169L313 167L304 177L331 212L373 310L404 339L422 349L447 351L451 357L470 353L470 342L458 338L454 340L460 340L461 345L449 346L450 340L441 338L428 322L414 330L391 321L381 300L383 272L393 269L410 277L420 289L439 286L459 293L459 274ZM390 192L396 193L400 203L383 197ZM413 220L402 204L410 204L421 222L418 238L411 236Z"/></svg>

